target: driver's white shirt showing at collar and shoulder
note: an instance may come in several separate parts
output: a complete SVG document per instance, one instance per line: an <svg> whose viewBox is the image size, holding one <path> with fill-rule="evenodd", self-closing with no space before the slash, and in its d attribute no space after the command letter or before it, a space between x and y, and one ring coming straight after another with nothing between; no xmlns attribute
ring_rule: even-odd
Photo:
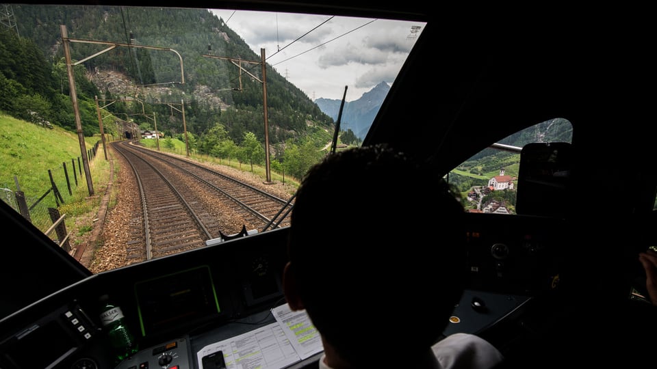
<svg viewBox="0 0 657 369"><path fill-rule="evenodd" d="M468 333L454 333L440 340L431 351L436 357L436 368L472 368L487 369L500 364L504 359L502 353L487 340ZM319 369L332 369L320 358Z"/></svg>

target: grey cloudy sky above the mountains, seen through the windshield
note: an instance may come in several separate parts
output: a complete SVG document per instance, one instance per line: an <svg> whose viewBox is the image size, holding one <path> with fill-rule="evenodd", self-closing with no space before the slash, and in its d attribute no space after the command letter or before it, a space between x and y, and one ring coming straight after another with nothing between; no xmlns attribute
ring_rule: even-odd
<svg viewBox="0 0 657 369"><path fill-rule="evenodd" d="M309 14L212 10L311 100L360 98L394 82L424 23ZM420 30L417 31L417 26ZM230 55L227 55L230 56Z"/></svg>

